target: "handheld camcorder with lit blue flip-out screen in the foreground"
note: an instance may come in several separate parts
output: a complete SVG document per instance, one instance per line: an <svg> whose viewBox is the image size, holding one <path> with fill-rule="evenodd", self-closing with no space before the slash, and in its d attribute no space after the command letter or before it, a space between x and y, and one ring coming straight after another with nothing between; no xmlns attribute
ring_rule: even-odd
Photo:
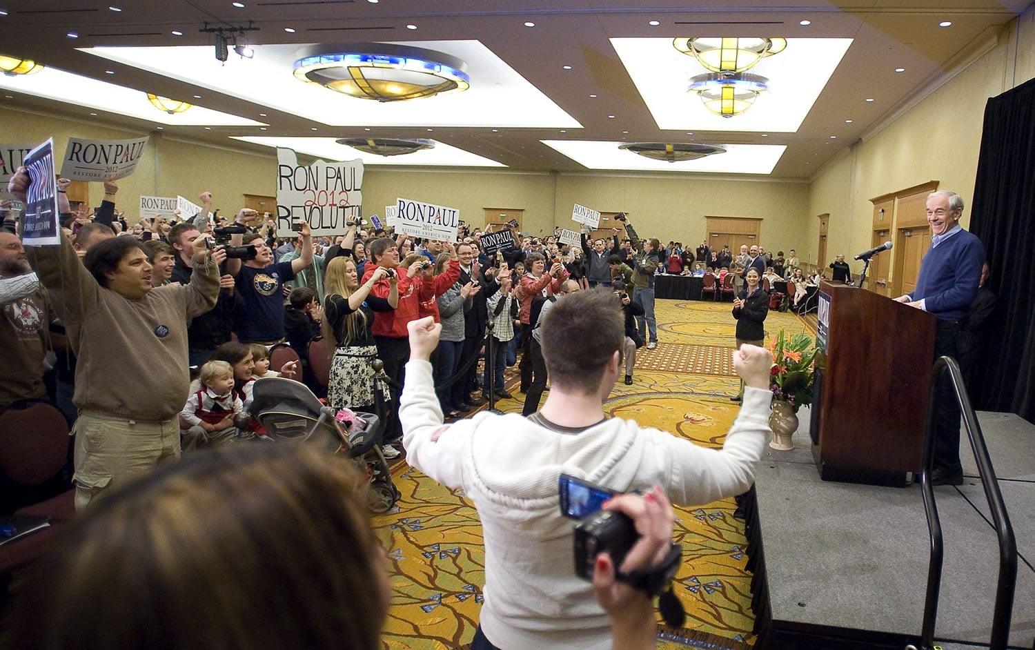
<svg viewBox="0 0 1035 650"><path fill-rule="evenodd" d="M568 474L561 474L558 491L561 514L579 522L574 532L575 575L592 581L596 556L604 551L615 566L621 566L640 535L626 514L600 509L604 501L619 493Z"/></svg>

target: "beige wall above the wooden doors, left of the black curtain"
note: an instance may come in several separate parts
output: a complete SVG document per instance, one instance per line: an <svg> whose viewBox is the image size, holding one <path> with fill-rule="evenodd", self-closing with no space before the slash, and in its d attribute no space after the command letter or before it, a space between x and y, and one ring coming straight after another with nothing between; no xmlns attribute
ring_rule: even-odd
<svg viewBox="0 0 1035 650"><path fill-rule="evenodd" d="M869 199L875 197L936 180L941 188L958 193L969 206L985 102L1033 78L1035 6L1003 31L990 52L812 178L808 213L830 213L828 257L850 256L870 246ZM964 212L962 221L965 227L970 223L969 212ZM818 219L809 220L807 228L806 255L815 259ZM853 270L862 270L861 263L854 262Z"/></svg>

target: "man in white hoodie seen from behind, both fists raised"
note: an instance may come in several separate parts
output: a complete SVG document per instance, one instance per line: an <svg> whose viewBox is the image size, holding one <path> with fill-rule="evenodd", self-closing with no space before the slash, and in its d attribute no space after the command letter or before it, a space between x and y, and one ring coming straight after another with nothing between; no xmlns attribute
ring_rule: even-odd
<svg viewBox="0 0 1035 650"><path fill-rule="evenodd" d="M742 346L734 366L744 401L721 449L699 447L634 421L605 418L621 374L622 313L610 291L559 300L546 316L542 353L552 379L536 413L443 425L430 355L439 326L410 323L410 361L400 402L407 462L463 488L481 520L484 603L472 650L612 647L608 616L573 571L572 523L561 516L558 477L626 493L659 485L675 504L702 505L746 492L769 431L772 355Z"/></svg>

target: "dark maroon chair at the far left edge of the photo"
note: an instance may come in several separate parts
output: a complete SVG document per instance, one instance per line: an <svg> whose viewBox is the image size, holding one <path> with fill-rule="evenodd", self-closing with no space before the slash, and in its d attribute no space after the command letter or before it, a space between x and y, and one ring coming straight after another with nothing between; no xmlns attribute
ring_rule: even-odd
<svg viewBox="0 0 1035 650"><path fill-rule="evenodd" d="M0 474L14 486L25 488L38 502L14 510L16 515L47 518L51 526L0 546L0 575L31 564L64 522L76 513L75 490L59 489L49 496L47 483L56 477L68 457L68 422L54 405L35 400L17 402L0 412ZM50 494L53 494L53 490Z"/></svg>

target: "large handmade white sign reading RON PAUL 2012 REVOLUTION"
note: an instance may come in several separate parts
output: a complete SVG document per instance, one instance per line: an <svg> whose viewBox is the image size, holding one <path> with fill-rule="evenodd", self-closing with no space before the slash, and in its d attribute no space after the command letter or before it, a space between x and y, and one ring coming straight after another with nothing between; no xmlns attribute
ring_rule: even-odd
<svg viewBox="0 0 1035 650"><path fill-rule="evenodd" d="M341 235L359 220L363 161L298 164L293 149L276 149L276 236L296 237L291 225L305 219L314 235Z"/></svg>

